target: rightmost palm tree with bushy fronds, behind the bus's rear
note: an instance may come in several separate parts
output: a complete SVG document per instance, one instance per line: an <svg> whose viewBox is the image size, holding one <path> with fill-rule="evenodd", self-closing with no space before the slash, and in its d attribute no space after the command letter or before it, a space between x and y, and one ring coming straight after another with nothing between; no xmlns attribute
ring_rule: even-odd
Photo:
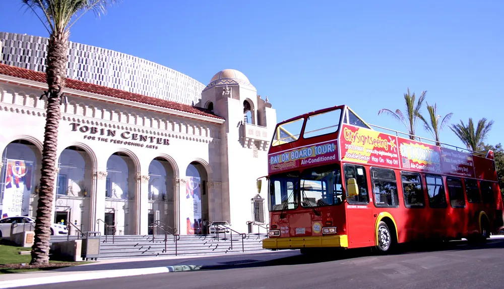
<svg viewBox="0 0 504 289"><path fill-rule="evenodd" d="M459 137L459 139L466 145L467 149L472 151L480 151L484 149L483 141L486 139L488 132L492 128L493 121L487 121L487 119L482 118L478 121L476 130L474 129L474 123L471 118L469 118L469 123L467 126L460 121L460 124L451 125L450 129Z"/></svg>

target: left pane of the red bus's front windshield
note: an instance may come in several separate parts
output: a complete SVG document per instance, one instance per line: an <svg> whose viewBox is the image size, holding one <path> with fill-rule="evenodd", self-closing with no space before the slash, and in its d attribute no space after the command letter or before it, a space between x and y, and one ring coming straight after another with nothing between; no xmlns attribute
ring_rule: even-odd
<svg viewBox="0 0 504 289"><path fill-rule="evenodd" d="M270 178L270 211L283 211L297 208L297 194L294 184L297 176L281 175Z"/></svg>

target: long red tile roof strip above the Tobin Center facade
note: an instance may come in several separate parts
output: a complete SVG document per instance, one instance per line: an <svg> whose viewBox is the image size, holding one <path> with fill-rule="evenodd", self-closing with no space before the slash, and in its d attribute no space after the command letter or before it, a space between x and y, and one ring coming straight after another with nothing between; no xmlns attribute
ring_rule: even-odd
<svg viewBox="0 0 504 289"><path fill-rule="evenodd" d="M37 72L37 71L28 70L28 69L19 68L19 67L10 66L10 65L5 65L5 64L0 64L0 74L23 78L23 79L28 79L28 80L33 80L33 81L42 82L42 83L46 82L45 73L43 73L43 72ZM210 110L204 109L201 107L195 107L195 106L181 104L181 103L177 103L174 101L164 100L164 99L160 99L160 98L156 98L156 97L145 96L142 94L137 94L137 93L128 92L128 91L124 91L124 90L120 90L120 89L110 88L110 87L106 87L106 86L102 86L102 85L87 83L84 81L75 80L75 79L71 79L71 78L67 78L66 87L80 90L80 91L85 91L85 92L107 95L107 96L115 97L118 99L125 99L125 100L155 105L155 106L159 106L159 107L175 109L175 110L184 111L184 112L188 112L188 113L204 115L205 117L211 117L211 118L221 119L221 120L224 119L222 117L219 117L218 115L213 114Z"/></svg>

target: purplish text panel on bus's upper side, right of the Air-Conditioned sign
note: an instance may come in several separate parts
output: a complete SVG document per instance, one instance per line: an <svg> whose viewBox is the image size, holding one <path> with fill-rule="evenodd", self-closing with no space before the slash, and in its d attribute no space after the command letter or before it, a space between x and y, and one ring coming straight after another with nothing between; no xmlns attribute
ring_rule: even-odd
<svg viewBox="0 0 504 289"><path fill-rule="evenodd" d="M472 154L441 148L441 166L447 175L474 178L474 160Z"/></svg>

